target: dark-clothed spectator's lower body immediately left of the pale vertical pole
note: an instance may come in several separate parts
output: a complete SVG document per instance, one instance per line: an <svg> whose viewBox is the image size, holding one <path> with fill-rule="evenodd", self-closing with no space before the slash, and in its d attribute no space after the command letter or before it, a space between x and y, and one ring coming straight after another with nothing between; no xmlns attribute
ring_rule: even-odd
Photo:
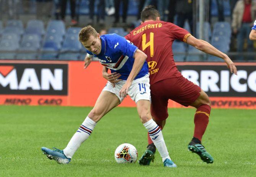
<svg viewBox="0 0 256 177"><path fill-rule="evenodd" d="M190 32L193 34L193 0L179 0L176 2L177 26L184 26L185 20L188 19Z"/></svg>

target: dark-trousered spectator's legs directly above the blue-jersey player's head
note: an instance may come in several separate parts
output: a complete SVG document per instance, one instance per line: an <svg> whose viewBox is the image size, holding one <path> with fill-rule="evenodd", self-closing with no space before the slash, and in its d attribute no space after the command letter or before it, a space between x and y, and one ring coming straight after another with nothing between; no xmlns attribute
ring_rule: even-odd
<svg viewBox="0 0 256 177"><path fill-rule="evenodd" d="M95 5L95 0L90 0L89 2L89 24L94 23L94 5ZM104 24L105 20L105 0L100 0L98 5L97 5L97 10L98 10L98 15L97 15L97 22L100 24Z"/></svg>

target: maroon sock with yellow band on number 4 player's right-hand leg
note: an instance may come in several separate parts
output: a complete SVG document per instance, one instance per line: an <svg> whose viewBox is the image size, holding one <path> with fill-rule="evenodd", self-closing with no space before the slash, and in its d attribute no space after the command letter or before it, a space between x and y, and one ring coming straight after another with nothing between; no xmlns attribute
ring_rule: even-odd
<svg viewBox="0 0 256 177"><path fill-rule="evenodd" d="M202 137L209 122L211 106L201 105L194 114L194 137L202 141Z"/></svg>

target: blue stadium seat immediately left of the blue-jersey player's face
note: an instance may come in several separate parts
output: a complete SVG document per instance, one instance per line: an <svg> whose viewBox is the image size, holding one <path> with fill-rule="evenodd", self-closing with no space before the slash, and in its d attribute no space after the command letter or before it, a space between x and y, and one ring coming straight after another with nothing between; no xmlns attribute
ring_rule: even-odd
<svg viewBox="0 0 256 177"><path fill-rule="evenodd" d="M61 51L77 51L81 50L81 43L78 40L78 35L76 34L67 34L62 45Z"/></svg>

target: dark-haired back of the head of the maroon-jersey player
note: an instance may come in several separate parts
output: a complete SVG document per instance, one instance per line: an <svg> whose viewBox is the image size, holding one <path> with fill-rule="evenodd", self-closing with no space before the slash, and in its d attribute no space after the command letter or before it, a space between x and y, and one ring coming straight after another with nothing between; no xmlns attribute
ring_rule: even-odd
<svg viewBox="0 0 256 177"><path fill-rule="evenodd" d="M160 13L155 6L148 5L141 11L141 21L145 20L156 20L157 17L160 17Z"/></svg>

